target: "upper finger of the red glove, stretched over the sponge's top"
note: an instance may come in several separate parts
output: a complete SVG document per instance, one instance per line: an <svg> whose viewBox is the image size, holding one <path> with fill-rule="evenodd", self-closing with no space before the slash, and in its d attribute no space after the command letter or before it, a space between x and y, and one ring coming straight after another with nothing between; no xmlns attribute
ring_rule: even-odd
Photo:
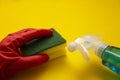
<svg viewBox="0 0 120 80"><path fill-rule="evenodd" d="M13 34L8 35L2 42L1 46L5 46L7 49L11 48L17 50L26 42L42 37L52 36L52 31L49 29L24 29Z"/></svg>

